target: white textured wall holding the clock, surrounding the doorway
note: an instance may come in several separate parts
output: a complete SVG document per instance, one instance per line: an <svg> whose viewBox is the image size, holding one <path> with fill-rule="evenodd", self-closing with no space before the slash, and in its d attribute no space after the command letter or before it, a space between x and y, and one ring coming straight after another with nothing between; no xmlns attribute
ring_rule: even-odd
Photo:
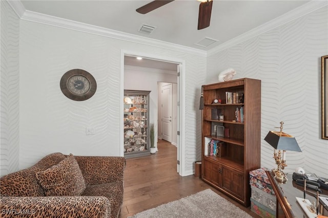
<svg viewBox="0 0 328 218"><path fill-rule="evenodd" d="M206 57L120 39L20 21L20 165L25 168L51 152L74 155L119 155L121 50L185 60L186 156L183 172L193 173L200 142L200 111L195 100L205 81ZM72 101L59 89L70 70L90 72L95 95ZM198 101L198 100L197 100ZM197 124L198 123L198 124ZM87 136L85 127L95 127Z"/></svg>

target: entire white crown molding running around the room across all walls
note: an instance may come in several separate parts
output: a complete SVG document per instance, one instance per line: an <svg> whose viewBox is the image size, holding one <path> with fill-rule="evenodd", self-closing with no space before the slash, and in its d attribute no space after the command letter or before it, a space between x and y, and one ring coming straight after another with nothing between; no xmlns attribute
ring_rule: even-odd
<svg viewBox="0 0 328 218"><path fill-rule="evenodd" d="M306 14L309 14L315 10L318 10L322 7L328 5L328 1L325 0L312 0L309 3L306 3L286 14L283 14L275 19L268 21L265 24L260 25L248 32L245 32L227 42L224 42L213 49L208 51L194 49L186 46L177 45L170 42L165 42L157 39L147 38L143 36L137 36L134 34L124 33L120 31L115 31L107 28L97 27L93 25L88 25L84 23L79 23L77 21L68 20L64 18L54 17L46 14L36 13L28 11L25 9L23 4L20 1L7 1L17 16L22 20L32 21L39 24L50 25L59 28L65 28L90 34L101 35L110 38L116 38L120 40L126 40L136 43L141 43L143 45L170 49L178 52L185 52L189 54L199 55L203 57L211 56L215 53L218 53L222 50L228 49L232 46L237 45L245 40L256 37L260 34L263 34L267 31L270 31L274 28L277 28L283 24L289 23L292 20L295 20L299 17L302 17Z"/></svg>

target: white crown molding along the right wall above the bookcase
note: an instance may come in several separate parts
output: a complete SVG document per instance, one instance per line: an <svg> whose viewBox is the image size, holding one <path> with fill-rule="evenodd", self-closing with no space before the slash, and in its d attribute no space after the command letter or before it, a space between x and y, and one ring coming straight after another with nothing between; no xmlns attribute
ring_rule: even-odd
<svg viewBox="0 0 328 218"><path fill-rule="evenodd" d="M265 32L268 32L274 28L277 28L281 25L284 25L286 23L289 23L290 21L293 21L299 17L302 17L302 16L305 16L306 14L309 14L313 11L316 11L320 8L323 8L325 6L328 5L328 1L324 1L324 0L313 0L311 2L308 2L308 3L305 3L304 5L298 7L298 8L295 8L294 10L288 12L288 13L285 13L275 19L272 19L270 21L268 21L267 23L265 24L262 24L248 32L245 32L229 41L226 41L224 43L222 43L221 45L213 48L213 49L210 49L208 52L207 52L207 56L211 56L215 53L218 53L222 50L225 50L225 49L228 49L232 46L235 46L245 40L248 40L248 39L251 39L253 37L256 37L260 34L263 34Z"/></svg>

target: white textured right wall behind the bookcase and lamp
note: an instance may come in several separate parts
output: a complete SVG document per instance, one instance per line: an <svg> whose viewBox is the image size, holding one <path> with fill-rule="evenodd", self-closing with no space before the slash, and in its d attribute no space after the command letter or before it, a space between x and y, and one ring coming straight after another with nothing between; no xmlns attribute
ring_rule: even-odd
<svg viewBox="0 0 328 218"><path fill-rule="evenodd" d="M208 57L207 81L234 68L235 78L262 80L261 166L274 168L264 137L284 121L302 152L287 151L284 171L303 167L328 177L328 140L321 139L320 57L328 54L327 7Z"/></svg>

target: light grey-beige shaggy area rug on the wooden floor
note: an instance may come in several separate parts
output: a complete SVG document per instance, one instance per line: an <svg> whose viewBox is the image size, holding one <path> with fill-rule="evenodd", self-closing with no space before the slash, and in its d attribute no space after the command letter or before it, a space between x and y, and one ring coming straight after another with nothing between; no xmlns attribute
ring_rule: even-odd
<svg viewBox="0 0 328 218"><path fill-rule="evenodd" d="M142 211L133 218L217 218L252 217L211 189L200 191L186 198L169 202L158 207Z"/></svg>

